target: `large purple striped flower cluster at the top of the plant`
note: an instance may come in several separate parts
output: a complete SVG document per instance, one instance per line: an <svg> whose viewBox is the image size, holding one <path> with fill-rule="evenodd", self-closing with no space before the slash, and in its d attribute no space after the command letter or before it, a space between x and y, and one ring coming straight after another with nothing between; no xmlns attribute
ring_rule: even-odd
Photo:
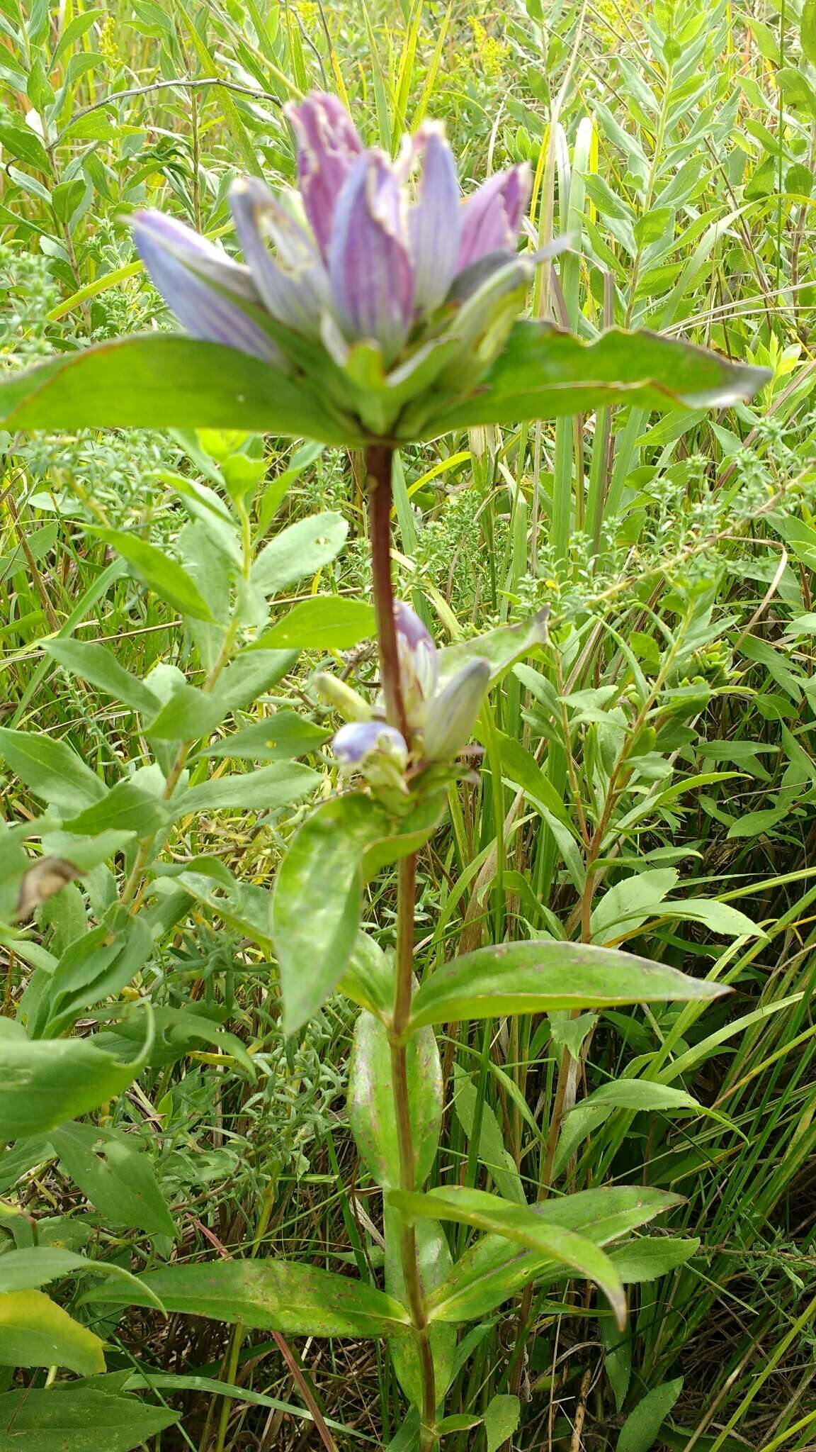
<svg viewBox="0 0 816 1452"><path fill-rule="evenodd" d="M311 93L286 113L298 139L299 192L274 193L244 177L229 193L245 266L161 212L134 216L138 251L183 327L287 372L308 372L303 340L341 369L360 343L389 369L428 338L460 338L460 360L488 340L481 362L489 363L530 276L530 261L515 253L527 164L462 200L437 122L405 136L391 161L363 145L335 96ZM504 330L497 305L502 319L507 314ZM453 354L449 348L440 367ZM421 386L427 382L424 375ZM402 378L399 389L411 396Z"/></svg>

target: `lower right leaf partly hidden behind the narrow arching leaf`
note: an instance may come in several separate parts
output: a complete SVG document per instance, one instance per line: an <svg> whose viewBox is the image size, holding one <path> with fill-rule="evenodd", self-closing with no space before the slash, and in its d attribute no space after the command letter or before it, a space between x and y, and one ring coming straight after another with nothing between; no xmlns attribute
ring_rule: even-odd
<svg viewBox="0 0 816 1452"><path fill-rule="evenodd" d="M544 1201L531 1207L531 1212L547 1224L578 1231L592 1244L605 1246L678 1204L678 1195L645 1185L607 1185ZM529 1281L555 1279L558 1273L559 1263L552 1256L518 1250L501 1236L484 1236L456 1262L447 1281L431 1291L428 1308L443 1321L478 1320Z"/></svg>

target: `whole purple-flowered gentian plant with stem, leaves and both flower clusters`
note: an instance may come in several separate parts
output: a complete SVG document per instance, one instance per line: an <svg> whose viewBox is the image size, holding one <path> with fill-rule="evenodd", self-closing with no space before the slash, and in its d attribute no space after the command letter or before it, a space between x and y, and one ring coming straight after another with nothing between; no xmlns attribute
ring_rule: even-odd
<svg viewBox="0 0 816 1452"><path fill-rule="evenodd" d="M578 341L520 319L542 261L540 253L517 251L526 167L462 199L436 123L407 138L392 161L363 144L332 96L306 97L289 119L298 192L276 195L257 179L232 186L244 263L173 218L134 218L136 247L186 335L122 338L12 376L0 386L0 423L260 430L364 450L379 691L364 698L341 680L318 678L344 717L332 745L337 790L303 822L280 865L272 939L286 1034L337 987L360 1008L348 1117L382 1188L385 1289L256 1257L171 1265L138 1285L110 1282L99 1297L144 1305L158 1297L167 1310L289 1333L389 1337L415 1408L399 1446L430 1452L453 1430L444 1397L457 1366L457 1324L491 1316L534 1282L566 1278L598 1286L621 1324L623 1284L603 1246L675 1199L643 1185L547 1198L558 1111L542 1204L460 1185L425 1192L444 1109L436 1027L720 990L617 950L555 939L485 945L417 983L417 851L457 778L475 770L466 748L488 690L521 655L542 650L546 620L437 649L414 610L393 598L393 450L472 425L614 402L722 407L751 396L765 375L649 333L613 328ZM360 931L364 884L391 864L392 957ZM565 1050L555 1099L562 1109L572 1067ZM444 1221L484 1233L456 1262ZM527 1298L517 1352L529 1310Z"/></svg>

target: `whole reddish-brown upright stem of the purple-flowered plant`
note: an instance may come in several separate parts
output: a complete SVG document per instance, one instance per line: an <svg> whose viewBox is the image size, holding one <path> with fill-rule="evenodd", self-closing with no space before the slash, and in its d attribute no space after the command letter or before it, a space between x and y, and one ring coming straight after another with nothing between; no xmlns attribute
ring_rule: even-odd
<svg viewBox="0 0 816 1452"><path fill-rule="evenodd" d="M393 582L391 578L391 470L393 450L389 444L369 444L366 449L366 473L369 482L369 518L372 530L372 575L375 611L378 620L378 642L380 661L380 682L385 698L385 713L391 726L396 726L408 741L408 723L399 680L399 655L396 649L396 627L393 623ZM411 1099L408 1093L408 1044L405 1035L411 1018L411 993L414 989L414 906L417 899L417 858L407 857L399 862L396 897L396 984L393 995L393 1025L391 1032L391 1086L396 1119L396 1143L399 1153L399 1188L417 1189L417 1162L414 1157L414 1135L411 1130ZM405 1282L405 1301L423 1378L423 1407L420 1411L420 1452L434 1452L438 1445L434 1435L436 1381L423 1276L417 1252L417 1231L409 1220L399 1215L399 1259Z"/></svg>

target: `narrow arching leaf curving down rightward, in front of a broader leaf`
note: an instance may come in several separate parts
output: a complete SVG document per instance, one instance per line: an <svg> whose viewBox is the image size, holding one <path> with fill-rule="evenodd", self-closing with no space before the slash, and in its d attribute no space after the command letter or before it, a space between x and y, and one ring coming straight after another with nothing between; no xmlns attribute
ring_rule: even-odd
<svg viewBox="0 0 816 1452"><path fill-rule="evenodd" d="M556 1265L568 1266L587 1281L594 1281L607 1297L617 1324L626 1324L623 1282L610 1257L585 1236L563 1225L547 1223L531 1205L514 1205L498 1195L481 1189L452 1185L431 1189L427 1195L389 1191L388 1202L405 1215L431 1220L453 1220L491 1234L513 1240L526 1250L549 1256Z"/></svg>

